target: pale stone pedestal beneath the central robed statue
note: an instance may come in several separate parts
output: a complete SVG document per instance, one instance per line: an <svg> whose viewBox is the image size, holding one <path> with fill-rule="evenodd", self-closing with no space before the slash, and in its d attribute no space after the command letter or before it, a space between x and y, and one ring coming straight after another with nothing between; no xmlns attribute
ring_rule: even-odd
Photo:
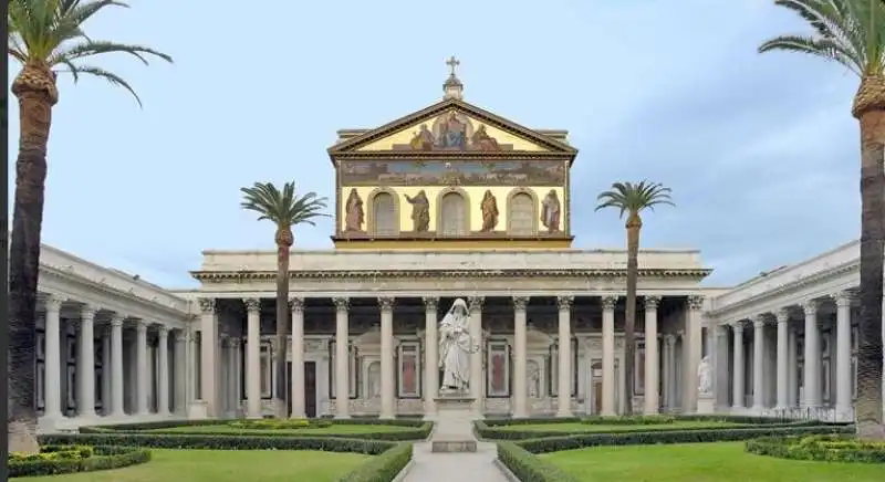
<svg viewBox="0 0 885 482"><path fill-rule="evenodd" d="M473 437L472 397L442 396L435 399L437 423L430 436L431 452L476 452L477 439Z"/></svg>

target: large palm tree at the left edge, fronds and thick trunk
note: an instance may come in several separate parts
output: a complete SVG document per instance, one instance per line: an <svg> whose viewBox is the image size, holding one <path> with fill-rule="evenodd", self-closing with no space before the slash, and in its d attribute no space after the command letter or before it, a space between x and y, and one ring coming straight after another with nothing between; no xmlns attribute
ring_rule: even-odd
<svg viewBox="0 0 885 482"><path fill-rule="evenodd" d="M81 75L104 78L128 91L140 105L138 95L126 81L82 61L104 53L125 53L145 64L148 55L171 62L168 55L146 46L98 41L86 35L83 23L105 7L127 4L112 0L9 0L9 55L22 64L12 82L20 119L9 254L9 448L14 451L39 450L33 395L34 319L46 142L52 106L59 101L56 75L67 73L74 82Z"/></svg>

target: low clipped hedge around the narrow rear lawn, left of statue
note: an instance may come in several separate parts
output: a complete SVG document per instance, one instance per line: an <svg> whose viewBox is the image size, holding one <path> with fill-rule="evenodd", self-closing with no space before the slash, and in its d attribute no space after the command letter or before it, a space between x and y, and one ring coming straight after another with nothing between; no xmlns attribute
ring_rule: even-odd
<svg viewBox="0 0 885 482"><path fill-rule="evenodd" d="M212 433L215 437L247 437L247 436L262 436L262 437L312 437L312 438L342 438L342 439L371 439L371 440L388 440L388 441L404 441L404 440L424 440L430 436L430 432L434 430L433 422L426 422L423 420L408 420L408 419L394 419L394 420L381 420L381 419L346 419L346 420L333 420L333 419L317 419L317 420L304 420L306 423L305 427L296 427L296 426L288 426L288 425L298 425L300 420L272 420L272 419L262 419L262 420L180 420L180 421L155 421L155 422L145 422L145 423L125 423L125 425L114 425L114 426L101 426L101 427L81 427L80 433L152 433L152 434L168 434L168 436L178 436L178 434L194 434L194 436L205 436L208 434L206 431L192 431L188 432L186 429L181 430L183 427L206 427L206 426L223 426L229 425L231 428L237 429L237 431L225 431ZM233 423L254 423L257 427L236 427ZM268 427L260 427L261 425L268 425ZM273 425L280 425L279 427L271 427ZM365 432L365 433L298 433L299 428L310 428L310 427L329 427L333 425L358 425L358 426L393 426L393 427L403 427L408 428L410 430L397 430L397 431L385 431L385 432ZM164 429L177 429L177 430L164 430ZM261 430L260 433L256 433L257 430Z"/></svg>

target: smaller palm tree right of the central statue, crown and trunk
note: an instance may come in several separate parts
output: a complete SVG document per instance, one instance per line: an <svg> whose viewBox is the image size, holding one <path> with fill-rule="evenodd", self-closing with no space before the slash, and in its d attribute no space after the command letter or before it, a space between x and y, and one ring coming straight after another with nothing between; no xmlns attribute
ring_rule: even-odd
<svg viewBox="0 0 885 482"><path fill-rule="evenodd" d="M624 315L624 400L626 415L633 415L634 352L636 350L636 282L639 277L639 231L643 220L639 212L654 211L657 205L676 206L670 200L670 188L657 182L615 182L612 189L600 193L596 210L615 208L621 219L627 213L627 303Z"/></svg>

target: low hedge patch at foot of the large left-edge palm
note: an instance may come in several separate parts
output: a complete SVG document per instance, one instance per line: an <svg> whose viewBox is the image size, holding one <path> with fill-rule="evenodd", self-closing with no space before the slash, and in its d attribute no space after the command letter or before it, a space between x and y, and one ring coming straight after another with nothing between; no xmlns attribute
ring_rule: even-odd
<svg viewBox="0 0 885 482"><path fill-rule="evenodd" d="M132 447L85 447L73 444L42 444L33 455L11 454L9 476L54 475L74 472L119 469L145 463L150 451Z"/></svg>

